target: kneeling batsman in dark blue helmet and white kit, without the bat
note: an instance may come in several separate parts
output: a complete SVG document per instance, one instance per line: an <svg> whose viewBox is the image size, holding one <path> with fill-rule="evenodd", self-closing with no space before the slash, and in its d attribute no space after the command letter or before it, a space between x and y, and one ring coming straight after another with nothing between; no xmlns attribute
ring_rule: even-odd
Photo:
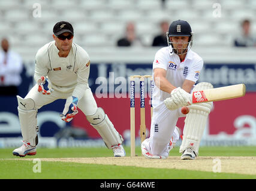
<svg viewBox="0 0 256 191"><path fill-rule="evenodd" d="M203 59L191 50L193 33L187 21L173 21L167 41L168 47L158 50L153 61L153 116L150 137L141 143L141 152L149 159L167 158L180 137L177 120L186 116L179 152L181 159L195 159L212 102L192 104L191 93L213 86L207 82L195 85ZM182 107L188 107L189 113L184 115Z"/></svg>

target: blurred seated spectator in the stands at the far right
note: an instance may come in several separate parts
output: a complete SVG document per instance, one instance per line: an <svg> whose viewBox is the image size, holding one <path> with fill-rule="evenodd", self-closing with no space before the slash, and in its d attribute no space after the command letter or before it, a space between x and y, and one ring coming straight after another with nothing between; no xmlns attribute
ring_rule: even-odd
<svg viewBox="0 0 256 191"><path fill-rule="evenodd" d="M242 35L234 40L236 47L252 47L256 45L255 38L250 33L251 22L249 20L242 21Z"/></svg>

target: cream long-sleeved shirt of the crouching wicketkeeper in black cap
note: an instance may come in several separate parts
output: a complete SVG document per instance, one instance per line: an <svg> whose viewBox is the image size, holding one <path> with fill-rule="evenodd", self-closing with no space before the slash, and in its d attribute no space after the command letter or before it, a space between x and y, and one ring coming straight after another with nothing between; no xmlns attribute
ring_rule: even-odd
<svg viewBox="0 0 256 191"><path fill-rule="evenodd" d="M85 50L73 43L67 57L59 57L55 41L49 42L38 50L35 56L35 75L37 81L47 76L53 90L72 93L82 98L88 87L90 58Z"/></svg>

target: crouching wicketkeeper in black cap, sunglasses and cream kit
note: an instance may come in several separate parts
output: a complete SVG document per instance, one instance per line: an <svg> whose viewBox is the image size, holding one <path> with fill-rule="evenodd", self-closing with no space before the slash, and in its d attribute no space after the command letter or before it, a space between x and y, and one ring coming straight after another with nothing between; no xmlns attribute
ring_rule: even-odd
<svg viewBox="0 0 256 191"><path fill-rule="evenodd" d="M74 29L67 21L53 27L53 40L38 50L35 56L34 79L37 84L25 98L17 96L23 144L13 155L37 153L37 112L42 106L58 99L66 103L60 120L70 122L82 110L92 127L112 149L114 156L125 156L122 136L97 103L88 85L90 59L82 47L73 42Z"/></svg>

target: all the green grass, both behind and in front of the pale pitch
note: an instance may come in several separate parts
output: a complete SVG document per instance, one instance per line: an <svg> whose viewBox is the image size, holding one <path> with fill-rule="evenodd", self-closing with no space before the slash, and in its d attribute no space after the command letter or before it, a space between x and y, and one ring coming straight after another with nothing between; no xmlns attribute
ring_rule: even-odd
<svg viewBox="0 0 256 191"><path fill-rule="evenodd" d="M127 156L129 147L125 147ZM0 178L86 178L86 179L179 179L179 178L256 178L256 175L224 172L206 172L165 168L144 168L119 165L85 164L78 162L41 161L41 172L34 172L36 163L24 159L33 158L101 158L113 157L106 148L38 148L37 155L19 158L13 149L0 149ZM136 148L140 155L140 148ZM180 156L179 148L170 156ZM200 156L256 156L256 147L201 147ZM12 160L16 159L16 160ZM180 160L181 161L181 160Z"/></svg>

